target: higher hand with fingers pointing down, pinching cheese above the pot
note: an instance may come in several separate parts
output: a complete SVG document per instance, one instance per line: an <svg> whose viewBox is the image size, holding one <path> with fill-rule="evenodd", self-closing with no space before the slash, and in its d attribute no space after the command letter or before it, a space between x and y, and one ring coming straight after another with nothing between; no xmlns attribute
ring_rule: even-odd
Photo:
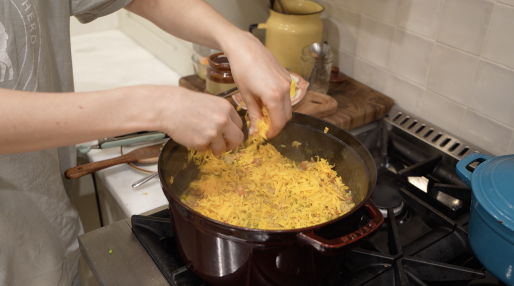
<svg viewBox="0 0 514 286"><path fill-rule="evenodd" d="M230 62L235 84L248 107L251 127L266 106L271 120L269 138L277 136L291 119L291 76L259 39L248 32L233 31L222 45Z"/></svg>

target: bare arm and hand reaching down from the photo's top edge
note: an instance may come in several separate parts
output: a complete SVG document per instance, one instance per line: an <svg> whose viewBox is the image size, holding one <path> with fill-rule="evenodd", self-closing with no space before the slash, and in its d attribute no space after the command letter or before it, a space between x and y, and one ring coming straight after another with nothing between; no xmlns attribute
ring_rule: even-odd
<svg viewBox="0 0 514 286"><path fill-rule="evenodd" d="M289 73L257 38L232 25L203 0L133 0L125 8L170 34L223 50L248 107L252 127L262 116L262 104L271 119L270 137L276 136L291 118Z"/></svg>

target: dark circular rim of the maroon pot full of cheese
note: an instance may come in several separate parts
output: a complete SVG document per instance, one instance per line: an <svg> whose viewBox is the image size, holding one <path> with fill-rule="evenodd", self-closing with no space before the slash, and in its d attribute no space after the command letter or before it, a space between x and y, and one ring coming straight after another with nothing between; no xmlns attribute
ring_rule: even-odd
<svg viewBox="0 0 514 286"><path fill-rule="evenodd" d="M337 125L334 125L332 124L331 122L328 122L326 120L323 120L321 118L318 118L318 117L314 117L314 116L310 116L310 115L307 115L307 114L303 114L303 113L298 113L298 112L293 112L295 114L300 114L302 116L308 116L308 117L312 117L312 118L315 118L317 120L321 120L323 122L325 122L326 124L330 125L331 128L337 128L337 129L340 129L341 131L343 132L346 132L348 133L348 135L352 136L355 140L357 140L357 142L359 142L359 144L364 148L365 152L366 152L366 155L368 155L372 160L373 160L373 156L371 155L370 151L368 150L368 148L366 148L364 146L364 144L362 144L362 142L357 139L355 136L353 136L351 133L349 133L348 131L340 128L339 126ZM289 122L287 123L289 124ZM315 129L315 130L318 130L318 131L321 131L323 132L323 130L320 130L320 129L317 129L317 128L314 128L312 126L309 126L309 128L311 129ZM333 139L341 142L341 144L347 146L347 144L345 144L345 142L343 142L341 139L335 137L334 135L332 134L329 134L329 133L325 133L324 135L327 135L327 136L330 136L332 137ZM170 140L168 140L168 142L166 142L166 144L164 145L164 147L161 149L161 153L159 154L159 161L161 160L162 158L162 150L164 150L164 148L166 147L166 145L168 145L170 142ZM178 147L180 147L181 145L179 145L177 143L177 146L174 147L178 149ZM350 148L349 146L347 146L347 148ZM352 148L350 148L351 150L353 150ZM174 152L173 150L170 151L171 152ZM358 154L356 154L354 152L354 154L356 156L359 157L359 159L361 160L362 162L362 158L361 156L359 156ZM364 165L362 163L362 165ZM175 203L177 203L179 206L181 206L183 209L185 209L188 213L190 214L193 214L193 215L196 215L198 217L200 217L201 219L206 219L207 221L209 222L212 222L212 223L215 223L217 224L218 226L220 227L223 227L223 228L229 228L229 229L235 229L237 231L248 231L248 232L252 232L252 233L272 233L272 234L277 234L277 233L301 233L301 232L307 232L307 231L313 231L313 230L316 230L316 229L320 229L320 228L324 228L325 226L328 226L329 224L332 224L332 223L335 223L347 216L350 216L351 214L353 214L354 212L356 212L357 210L361 209L364 207L365 203L370 200L371 198L371 195L373 194L374 190L375 190L375 186L376 186L376 179L377 179L377 172L375 171L374 172L374 178L372 178L373 174L371 174L370 170L368 170L368 168L366 166L364 166L364 170L366 171L366 173L368 173L368 178L370 179L370 186L368 187L369 189L369 192L366 194L366 196L364 197L364 199L359 203L359 205L355 206L350 212L347 212L345 213L344 215L336 218L336 219L333 219L333 220L329 220L327 222L324 222L324 223L321 223L321 224L315 224L314 226L310 226L310 227L306 227L306 228L302 228L302 229L289 229L289 230L262 230L262 229L251 229L251 228L244 228L244 227L238 227L238 226L234 226L232 224L228 224L228 223L225 223L225 222L221 222L221 221L218 221L218 220L215 220L215 219L212 219L210 217L207 217L207 216L204 216L203 214L200 214L196 211L194 211L193 209L191 209L190 207L186 206L184 203L182 203L179 199L177 199L173 194L171 194L170 190L168 189L168 186L166 183L163 183L163 182L166 182L166 180L164 180L163 178L163 172L161 171L161 168L159 167L160 164L158 164L158 169L157 169L157 172L159 174L159 180L161 182L161 187L164 189L164 191L166 191L170 197L174 200ZM375 165L372 165L373 168L376 169L376 166ZM171 208L171 205L172 203L170 203L170 208Z"/></svg>

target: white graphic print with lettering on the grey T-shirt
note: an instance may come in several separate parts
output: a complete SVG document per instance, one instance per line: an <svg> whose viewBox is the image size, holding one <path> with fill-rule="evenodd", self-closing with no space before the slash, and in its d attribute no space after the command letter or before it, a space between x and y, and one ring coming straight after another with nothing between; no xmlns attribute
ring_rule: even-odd
<svg viewBox="0 0 514 286"><path fill-rule="evenodd" d="M33 0L6 2L7 18L0 18L0 87L36 91L41 59L38 11Z"/></svg>

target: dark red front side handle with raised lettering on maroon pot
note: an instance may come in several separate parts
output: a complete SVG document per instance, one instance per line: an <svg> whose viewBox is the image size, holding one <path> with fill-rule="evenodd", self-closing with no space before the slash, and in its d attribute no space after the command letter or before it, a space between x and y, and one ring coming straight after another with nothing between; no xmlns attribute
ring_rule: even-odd
<svg viewBox="0 0 514 286"><path fill-rule="evenodd" d="M309 231L299 233L297 236L301 243L307 244L308 246L315 248L321 253L346 247L349 244L362 240L366 236L373 233L384 221L384 216L375 206L373 201L368 200L366 203L364 203L364 208L368 212L368 215L371 217L371 221L350 234L334 239L324 239L323 237L315 234L314 231Z"/></svg>

